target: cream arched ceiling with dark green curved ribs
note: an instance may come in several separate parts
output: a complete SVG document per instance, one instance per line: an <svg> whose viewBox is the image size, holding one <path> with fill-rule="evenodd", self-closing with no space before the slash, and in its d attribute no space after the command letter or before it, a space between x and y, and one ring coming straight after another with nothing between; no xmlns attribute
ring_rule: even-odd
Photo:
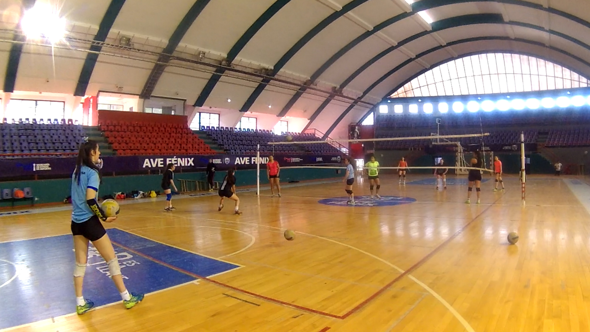
<svg viewBox="0 0 590 332"><path fill-rule="evenodd" d="M39 2L2 2L5 92L175 97L305 117L329 134L463 54L530 54L590 76L582 0L60 0L67 45L53 49L19 33Z"/></svg>

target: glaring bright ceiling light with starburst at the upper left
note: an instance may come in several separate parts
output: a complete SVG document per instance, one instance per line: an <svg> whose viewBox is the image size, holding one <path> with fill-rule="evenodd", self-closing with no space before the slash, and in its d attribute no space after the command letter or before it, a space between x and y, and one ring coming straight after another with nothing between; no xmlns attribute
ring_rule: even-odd
<svg viewBox="0 0 590 332"><path fill-rule="evenodd" d="M25 12L21 20L22 31L29 39L47 38L51 44L65 36L65 18L60 18L57 8L37 2Z"/></svg>

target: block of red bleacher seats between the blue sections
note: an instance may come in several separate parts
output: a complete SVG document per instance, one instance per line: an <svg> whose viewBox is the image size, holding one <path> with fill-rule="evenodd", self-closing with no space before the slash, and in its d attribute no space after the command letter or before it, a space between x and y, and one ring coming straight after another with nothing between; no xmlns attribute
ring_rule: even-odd
<svg viewBox="0 0 590 332"><path fill-rule="evenodd" d="M99 126L117 155L215 153L186 124L107 120Z"/></svg>

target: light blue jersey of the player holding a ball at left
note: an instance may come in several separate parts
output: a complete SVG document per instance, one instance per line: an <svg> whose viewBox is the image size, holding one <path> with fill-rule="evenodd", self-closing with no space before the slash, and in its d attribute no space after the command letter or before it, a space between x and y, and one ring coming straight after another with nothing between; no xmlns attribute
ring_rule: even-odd
<svg viewBox="0 0 590 332"><path fill-rule="evenodd" d="M71 187L72 221L82 223L94 216L94 213L86 203L86 189L95 190L98 196L100 178L99 172L88 166L82 166L80 168L80 184L78 184L78 179L74 178L75 174L76 172L74 171Z"/></svg>

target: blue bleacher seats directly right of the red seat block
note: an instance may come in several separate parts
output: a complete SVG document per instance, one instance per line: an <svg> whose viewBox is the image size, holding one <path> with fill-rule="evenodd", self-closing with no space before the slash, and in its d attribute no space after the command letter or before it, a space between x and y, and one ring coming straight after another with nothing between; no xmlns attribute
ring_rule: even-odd
<svg viewBox="0 0 590 332"><path fill-rule="evenodd" d="M309 133L287 132L282 135L275 135L273 132L258 129L256 131L240 131L238 128L207 128L202 130L207 132L217 144L221 145L229 154L254 154L257 145L260 144L260 152L268 154L315 154L315 155L338 155L342 154L339 149L328 143L319 144L279 144L270 145L268 142L285 142L287 135L293 137L293 141L319 141L320 138Z"/></svg>

